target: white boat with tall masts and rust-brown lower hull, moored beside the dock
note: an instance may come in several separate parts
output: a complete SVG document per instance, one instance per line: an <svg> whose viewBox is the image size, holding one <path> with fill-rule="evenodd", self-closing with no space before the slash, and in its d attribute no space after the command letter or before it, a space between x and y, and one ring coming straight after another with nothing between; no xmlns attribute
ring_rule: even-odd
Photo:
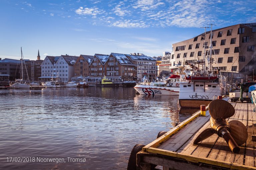
<svg viewBox="0 0 256 170"><path fill-rule="evenodd" d="M218 75L217 68L211 69L212 39L210 42L210 60L207 59L208 66L206 67L205 65L206 56L204 55L203 59L195 61L197 66L190 64L190 67L193 68L191 76L181 76L179 95L181 108L200 108L200 105L207 106L214 98L226 93L226 77Z"/></svg>

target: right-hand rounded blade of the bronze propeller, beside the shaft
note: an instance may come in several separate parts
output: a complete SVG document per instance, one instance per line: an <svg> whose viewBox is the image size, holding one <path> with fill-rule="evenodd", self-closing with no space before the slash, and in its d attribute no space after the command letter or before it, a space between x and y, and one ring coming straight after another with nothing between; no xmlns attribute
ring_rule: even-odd
<svg viewBox="0 0 256 170"><path fill-rule="evenodd" d="M238 145L242 145L248 138L248 132L244 124L240 121L233 120L229 122L230 134Z"/></svg>

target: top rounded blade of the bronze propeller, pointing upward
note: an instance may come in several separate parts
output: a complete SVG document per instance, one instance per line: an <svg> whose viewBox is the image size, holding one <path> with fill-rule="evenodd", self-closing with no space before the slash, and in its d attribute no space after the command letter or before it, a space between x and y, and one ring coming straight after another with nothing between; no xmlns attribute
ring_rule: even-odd
<svg viewBox="0 0 256 170"><path fill-rule="evenodd" d="M235 114L234 107L222 99L211 101L208 110L214 120L218 118L227 119Z"/></svg>

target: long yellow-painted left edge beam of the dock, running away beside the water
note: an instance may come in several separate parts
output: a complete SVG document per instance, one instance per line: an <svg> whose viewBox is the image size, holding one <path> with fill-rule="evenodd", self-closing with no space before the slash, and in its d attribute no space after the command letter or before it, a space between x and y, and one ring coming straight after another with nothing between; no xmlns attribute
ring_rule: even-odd
<svg viewBox="0 0 256 170"><path fill-rule="evenodd" d="M208 106L206 106L205 110L208 110ZM175 134L177 131L179 131L181 128L183 128L185 125L187 125L188 123L192 122L193 120L195 120L197 117L199 117L201 115L201 111L199 110L198 112L196 112L194 115L192 115L190 118L188 118L187 120L183 121L181 124L179 124L178 126L172 128L170 131L168 131L167 133L165 133L164 135L162 135L161 137L159 137L158 139L154 140L153 142L147 144L146 146L144 146L142 148L142 151L147 152L149 147L156 147L157 145L159 145L160 143L166 141L169 137L171 137L173 134Z"/></svg>

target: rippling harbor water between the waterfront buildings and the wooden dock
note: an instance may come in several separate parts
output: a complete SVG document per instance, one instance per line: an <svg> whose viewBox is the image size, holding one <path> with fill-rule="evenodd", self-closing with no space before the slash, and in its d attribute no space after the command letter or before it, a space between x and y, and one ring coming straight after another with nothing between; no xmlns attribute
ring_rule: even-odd
<svg viewBox="0 0 256 170"><path fill-rule="evenodd" d="M0 90L0 169L126 169L135 144L189 118L133 88ZM57 159L53 159L57 158Z"/></svg>

